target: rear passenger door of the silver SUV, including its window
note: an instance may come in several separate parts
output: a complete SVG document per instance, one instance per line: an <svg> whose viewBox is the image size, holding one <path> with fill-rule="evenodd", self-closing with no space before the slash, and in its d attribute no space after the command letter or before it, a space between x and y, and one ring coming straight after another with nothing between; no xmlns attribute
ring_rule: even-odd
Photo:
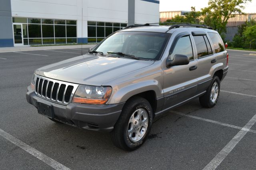
<svg viewBox="0 0 256 170"><path fill-rule="evenodd" d="M209 37L206 32L192 32L196 45L196 55L198 60L198 89L197 93L202 93L207 89L212 80L211 69L216 64L216 55L213 54Z"/></svg>

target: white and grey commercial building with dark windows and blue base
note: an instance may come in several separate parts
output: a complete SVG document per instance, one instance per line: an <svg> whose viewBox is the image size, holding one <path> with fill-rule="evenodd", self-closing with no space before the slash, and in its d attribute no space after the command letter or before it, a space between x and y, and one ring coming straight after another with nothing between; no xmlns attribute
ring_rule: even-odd
<svg viewBox="0 0 256 170"><path fill-rule="evenodd" d="M159 0L1 0L0 47L98 43L159 21Z"/></svg>

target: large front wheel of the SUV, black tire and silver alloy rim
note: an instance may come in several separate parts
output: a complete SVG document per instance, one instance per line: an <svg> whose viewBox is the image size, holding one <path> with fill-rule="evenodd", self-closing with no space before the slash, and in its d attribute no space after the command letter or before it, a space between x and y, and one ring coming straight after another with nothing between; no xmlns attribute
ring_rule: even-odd
<svg viewBox="0 0 256 170"><path fill-rule="evenodd" d="M152 114L152 107L146 99L142 97L129 99L111 132L114 145L127 151L139 148L150 132Z"/></svg>

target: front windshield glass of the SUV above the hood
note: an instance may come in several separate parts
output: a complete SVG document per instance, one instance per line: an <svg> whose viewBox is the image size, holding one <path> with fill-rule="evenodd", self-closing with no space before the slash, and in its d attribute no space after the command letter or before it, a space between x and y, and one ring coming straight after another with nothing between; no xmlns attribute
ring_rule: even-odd
<svg viewBox="0 0 256 170"><path fill-rule="evenodd" d="M123 53L140 59L158 60L170 34L158 32L117 32L96 46L94 51Z"/></svg>

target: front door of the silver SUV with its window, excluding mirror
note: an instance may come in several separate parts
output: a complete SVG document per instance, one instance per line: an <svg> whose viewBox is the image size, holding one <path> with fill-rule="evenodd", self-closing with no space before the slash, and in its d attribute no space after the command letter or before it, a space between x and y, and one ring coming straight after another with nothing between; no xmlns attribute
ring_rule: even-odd
<svg viewBox="0 0 256 170"><path fill-rule="evenodd" d="M174 38L170 47L170 58L176 54L189 57L188 65L175 65L170 68L164 67L164 108L167 109L182 101L189 99L196 93L197 86L197 60L195 59L194 45L191 41L191 34L183 32Z"/></svg>

